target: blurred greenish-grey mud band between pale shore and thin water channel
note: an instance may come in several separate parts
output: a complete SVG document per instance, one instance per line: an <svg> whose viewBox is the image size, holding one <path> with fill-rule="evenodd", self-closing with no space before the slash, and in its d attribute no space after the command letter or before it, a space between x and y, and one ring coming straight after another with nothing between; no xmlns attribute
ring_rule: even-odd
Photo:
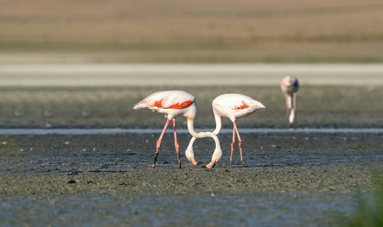
<svg viewBox="0 0 383 227"><path fill-rule="evenodd" d="M59 77L57 77L59 78ZM56 78L56 79L57 79ZM286 109L275 86L0 86L1 128L162 128L165 119L134 104L160 90L184 90L197 102L195 128L214 128L212 101L223 93L246 94L266 109L237 121L240 128L285 128ZM297 127L383 128L381 85L301 85L297 93ZM185 118L178 127L186 128ZM223 119L223 127L232 123Z"/></svg>

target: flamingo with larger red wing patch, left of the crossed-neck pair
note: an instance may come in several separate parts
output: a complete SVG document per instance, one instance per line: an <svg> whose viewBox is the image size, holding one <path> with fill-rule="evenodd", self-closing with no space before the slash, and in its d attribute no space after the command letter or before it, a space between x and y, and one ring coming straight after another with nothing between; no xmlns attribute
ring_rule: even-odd
<svg viewBox="0 0 383 227"><path fill-rule="evenodd" d="M182 115L187 119L187 129L192 136L197 138L211 137L214 139L216 147L212 156L212 161L206 165L208 168L212 168L216 163L221 159L222 150L219 144L218 137L211 132L196 132L194 130L194 119L197 115L196 99L193 95L185 91L158 91L148 97L144 98L142 101L138 102L133 109L142 109L148 108L153 111L165 113L167 118L165 126L162 130L162 133L156 143L156 153L154 156L154 161L152 167L156 166L157 156L161 146L162 137L166 131L166 128L169 125L169 122L173 121L174 129L174 147L178 159L178 168L181 167L181 160L179 157L179 144L177 142L177 131L175 127L175 118L178 115ZM197 165L197 161L194 158L194 153L186 153L186 158L193 165Z"/></svg>

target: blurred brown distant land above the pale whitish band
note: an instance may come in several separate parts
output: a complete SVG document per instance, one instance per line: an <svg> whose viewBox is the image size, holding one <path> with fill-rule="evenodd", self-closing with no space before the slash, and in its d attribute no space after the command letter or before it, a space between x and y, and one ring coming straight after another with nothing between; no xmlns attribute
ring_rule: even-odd
<svg viewBox="0 0 383 227"><path fill-rule="evenodd" d="M0 63L382 63L383 2L0 0Z"/></svg>

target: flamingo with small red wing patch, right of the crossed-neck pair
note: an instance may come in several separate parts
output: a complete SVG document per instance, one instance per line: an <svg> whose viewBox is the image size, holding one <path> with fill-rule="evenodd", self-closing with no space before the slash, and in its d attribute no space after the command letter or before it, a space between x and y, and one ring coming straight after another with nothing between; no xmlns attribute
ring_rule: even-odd
<svg viewBox="0 0 383 227"><path fill-rule="evenodd" d="M239 136L236 120L239 118L246 117L258 109L266 108L261 102L254 100L243 94L222 94L213 100L213 112L216 121L216 128L213 134L218 135L222 128L222 117L229 118L233 122L233 140L231 142L231 153L230 153L230 165L232 164L233 150L235 145L235 133L238 137L239 153L241 156L241 163L244 164L242 159L242 140ZM185 153L194 154L193 143L196 140L193 137L189 145L186 148Z"/></svg>

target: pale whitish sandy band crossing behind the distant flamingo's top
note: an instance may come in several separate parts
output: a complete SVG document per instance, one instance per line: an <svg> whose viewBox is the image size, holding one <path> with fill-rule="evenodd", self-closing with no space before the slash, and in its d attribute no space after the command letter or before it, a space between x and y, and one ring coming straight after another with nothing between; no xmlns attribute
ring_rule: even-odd
<svg viewBox="0 0 383 227"><path fill-rule="evenodd" d="M2 86L383 85L382 64L0 64Z"/></svg>

